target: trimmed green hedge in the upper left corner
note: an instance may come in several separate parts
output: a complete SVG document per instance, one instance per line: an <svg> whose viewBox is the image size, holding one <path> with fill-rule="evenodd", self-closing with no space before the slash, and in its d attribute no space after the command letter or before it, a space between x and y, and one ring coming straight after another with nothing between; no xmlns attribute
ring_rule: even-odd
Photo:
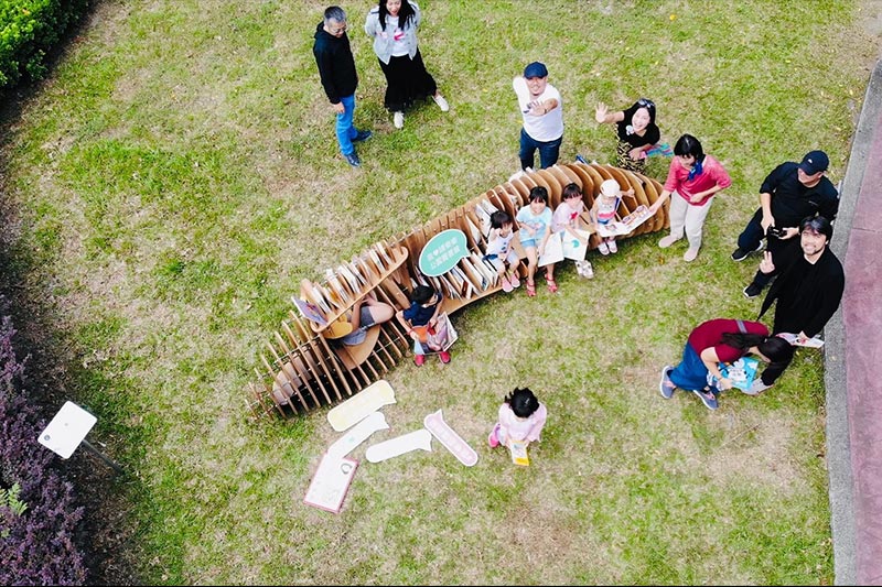
<svg viewBox="0 0 882 587"><path fill-rule="evenodd" d="M89 0L0 0L0 88L46 73L50 52Z"/></svg>

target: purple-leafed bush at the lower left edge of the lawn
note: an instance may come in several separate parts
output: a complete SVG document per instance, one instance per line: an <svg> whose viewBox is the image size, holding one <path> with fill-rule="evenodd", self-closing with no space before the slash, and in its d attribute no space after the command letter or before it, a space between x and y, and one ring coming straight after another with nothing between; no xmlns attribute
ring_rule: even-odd
<svg viewBox="0 0 882 587"><path fill-rule="evenodd" d="M0 312L6 301L0 298ZM15 513L0 503L0 585L83 585L86 567L74 542L83 509L71 483L52 467L54 454L37 444L45 427L22 385L24 366L12 348L9 317L0 319L0 488L18 483Z"/></svg>

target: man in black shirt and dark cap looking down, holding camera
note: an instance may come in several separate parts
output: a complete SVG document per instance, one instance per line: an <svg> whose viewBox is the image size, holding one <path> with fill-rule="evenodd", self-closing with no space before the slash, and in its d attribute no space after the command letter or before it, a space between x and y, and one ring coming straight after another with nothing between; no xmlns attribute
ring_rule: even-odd
<svg viewBox="0 0 882 587"><path fill-rule="evenodd" d="M788 161L775 167L760 187L760 209L738 237L732 260L743 261L750 253L762 250L763 238L774 257L788 243L796 242L794 237L799 233L799 222L804 218L836 218L839 192L825 175L829 164L827 153L810 151L800 163ZM744 296L760 295L772 278L757 271L751 284L744 287Z"/></svg>

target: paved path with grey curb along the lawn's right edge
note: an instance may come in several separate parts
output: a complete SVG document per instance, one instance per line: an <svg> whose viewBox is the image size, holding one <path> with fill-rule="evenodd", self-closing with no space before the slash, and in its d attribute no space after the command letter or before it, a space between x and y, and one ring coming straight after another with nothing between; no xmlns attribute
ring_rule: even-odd
<svg viewBox="0 0 882 587"><path fill-rule="evenodd" d="M831 249L842 305L825 328L827 465L837 585L882 585L882 62L870 77Z"/></svg>

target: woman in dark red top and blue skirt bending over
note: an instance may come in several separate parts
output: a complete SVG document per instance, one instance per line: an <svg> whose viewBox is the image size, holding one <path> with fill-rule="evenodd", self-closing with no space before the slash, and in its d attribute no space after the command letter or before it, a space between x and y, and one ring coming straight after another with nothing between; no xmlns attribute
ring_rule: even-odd
<svg viewBox="0 0 882 587"><path fill-rule="evenodd" d="M778 336L770 336L768 328L759 322L716 318L696 326L689 334L682 361L676 368L662 369L658 391L669 400L680 388L695 393L710 410L717 410L717 394L732 389L732 381L722 377L719 363L730 363L745 355L756 355L773 366L790 362L793 346ZM708 384L708 373L717 385Z"/></svg>

